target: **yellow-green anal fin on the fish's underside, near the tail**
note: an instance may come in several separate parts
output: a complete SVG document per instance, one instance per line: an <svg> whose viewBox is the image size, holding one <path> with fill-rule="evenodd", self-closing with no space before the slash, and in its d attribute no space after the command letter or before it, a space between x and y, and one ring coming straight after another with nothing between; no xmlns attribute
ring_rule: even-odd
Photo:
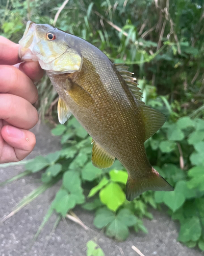
<svg viewBox="0 0 204 256"><path fill-rule="evenodd" d="M115 157L111 156L104 150L103 147L99 146L95 141L92 148L92 163L95 167L103 169L111 167L115 161Z"/></svg>

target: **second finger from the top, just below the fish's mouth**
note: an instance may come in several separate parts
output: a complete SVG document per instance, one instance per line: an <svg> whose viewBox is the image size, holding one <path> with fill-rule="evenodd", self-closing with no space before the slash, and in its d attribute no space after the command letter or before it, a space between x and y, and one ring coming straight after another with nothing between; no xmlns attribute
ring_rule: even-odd
<svg viewBox="0 0 204 256"><path fill-rule="evenodd" d="M20 96L31 104L38 99L38 91L33 81L13 66L0 66L0 93Z"/></svg>

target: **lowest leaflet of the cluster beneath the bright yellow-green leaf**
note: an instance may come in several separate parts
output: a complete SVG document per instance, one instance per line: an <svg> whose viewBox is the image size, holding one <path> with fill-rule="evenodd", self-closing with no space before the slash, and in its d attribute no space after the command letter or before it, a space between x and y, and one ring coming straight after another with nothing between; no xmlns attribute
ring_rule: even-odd
<svg viewBox="0 0 204 256"><path fill-rule="evenodd" d="M117 240L123 241L129 236L129 230L127 226L116 217L107 227L106 234L108 237L115 237Z"/></svg>

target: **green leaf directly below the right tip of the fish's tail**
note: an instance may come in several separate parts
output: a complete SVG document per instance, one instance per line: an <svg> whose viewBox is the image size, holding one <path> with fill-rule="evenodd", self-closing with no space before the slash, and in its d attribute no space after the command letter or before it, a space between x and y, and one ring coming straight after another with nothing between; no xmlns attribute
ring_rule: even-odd
<svg viewBox="0 0 204 256"><path fill-rule="evenodd" d="M183 205L185 196L176 190L164 192L163 201L174 212Z"/></svg>

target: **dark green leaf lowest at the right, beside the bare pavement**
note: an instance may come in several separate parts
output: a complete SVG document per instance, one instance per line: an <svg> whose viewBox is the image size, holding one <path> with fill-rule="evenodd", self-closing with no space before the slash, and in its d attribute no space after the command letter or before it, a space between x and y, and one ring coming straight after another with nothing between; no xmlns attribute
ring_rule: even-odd
<svg viewBox="0 0 204 256"><path fill-rule="evenodd" d="M201 226L198 217L185 219L182 222L178 240L180 242L197 241L201 236Z"/></svg>

